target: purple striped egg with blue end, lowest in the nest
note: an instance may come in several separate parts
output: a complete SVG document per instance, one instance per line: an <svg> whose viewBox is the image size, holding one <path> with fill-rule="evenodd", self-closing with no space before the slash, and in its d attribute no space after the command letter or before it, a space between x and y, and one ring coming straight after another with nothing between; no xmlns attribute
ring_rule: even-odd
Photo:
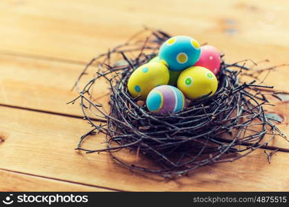
<svg viewBox="0 0 289 207"><path fill-rule="evenodd" d="M158 114L179 112L184 109L185 103L182 91L168 85L152 89L146 99L148 110Z"/></svg>

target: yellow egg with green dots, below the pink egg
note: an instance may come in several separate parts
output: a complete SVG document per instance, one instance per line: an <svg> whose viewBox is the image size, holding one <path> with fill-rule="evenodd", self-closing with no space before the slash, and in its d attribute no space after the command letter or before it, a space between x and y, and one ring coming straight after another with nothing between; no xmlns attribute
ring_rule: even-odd
<svg viewBox="0 0 289 207"><path fill-rule="evenodd" d="M177 88L184 93L187 99L200 99L216 92L218 80L211 70L193 66L179 75Z"/></svg>

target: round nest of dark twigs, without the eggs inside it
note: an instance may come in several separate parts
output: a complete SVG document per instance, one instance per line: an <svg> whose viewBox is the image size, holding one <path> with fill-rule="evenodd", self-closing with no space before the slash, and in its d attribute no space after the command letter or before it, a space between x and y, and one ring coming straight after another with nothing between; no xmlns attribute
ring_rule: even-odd
<svg viewBox="0 0 289 207"><path fill-rule="evenodd" d="M276 97L272 87L262 86L262 81L240 81L240 77L258 77L274 67L253 70L245 66L247 61L228 64L222 60L217 92L189 102L186 109L174 114L153 114L145 103L133 99L126 86L128 78L134 69L155 57L168 38L170 35L160 30L145 29L87 64L74 86L79 96L70 102L80 101L84 119L92 127L80 138L77 150L109 152L131 170L175 178L200 166L244 157L277 135L286 139L272 122L277 120L267 117L263 109L270 104L268 96ZM93 70L91 79L80 86L89 69ZM108 91L100 84L104 80ZM110 97L108 111L104 107L107 103L97 103L96 92ZM105 135L106 148L82 148L87 137L98 133ZM124 149L137 159L123 159L119 151ZM143 159L150 163L141 164Z"/></svg>

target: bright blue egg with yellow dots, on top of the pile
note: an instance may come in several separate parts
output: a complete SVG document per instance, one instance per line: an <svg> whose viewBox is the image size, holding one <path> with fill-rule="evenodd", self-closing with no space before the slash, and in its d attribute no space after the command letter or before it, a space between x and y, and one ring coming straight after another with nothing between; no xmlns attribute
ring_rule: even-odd
<svg viewBox="0 0 289 207"><path fill-rule="evenodd" d="M159 59L170 70L181 71L193 66L200 58L200 44L187 36L175 36L165 41L159 49Z"/></svg>

